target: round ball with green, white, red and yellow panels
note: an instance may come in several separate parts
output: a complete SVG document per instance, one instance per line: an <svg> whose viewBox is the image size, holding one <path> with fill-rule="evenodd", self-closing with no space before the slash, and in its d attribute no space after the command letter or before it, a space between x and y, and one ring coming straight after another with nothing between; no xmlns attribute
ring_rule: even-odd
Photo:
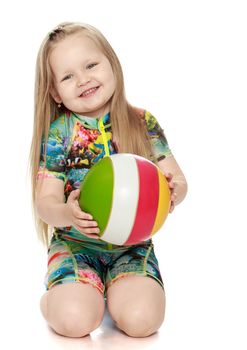
<svg viewBox="0 0 247 350"><path fill-rule="evenodd" d="M160 169L146 158L118 153L87 172L79 205L97 221L103 241L133 245L150 239L170 209L170 189Z"/></svg>

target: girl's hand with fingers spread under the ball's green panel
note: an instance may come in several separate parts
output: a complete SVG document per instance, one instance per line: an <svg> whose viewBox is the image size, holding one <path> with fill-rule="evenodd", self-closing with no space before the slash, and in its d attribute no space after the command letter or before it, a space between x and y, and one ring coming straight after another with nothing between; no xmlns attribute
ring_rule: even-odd
<svg viewBox="0 0 247 350"><path fill-rule="evenodd" d="M83 235L100 239L99 237L99 227L96 221L93 220L92 215L85 213L81 210L78 202L80 195L80 190L74 190L70 193L67 199L67 209L69 220L71 221L71 226L74 226Z"/></svg>

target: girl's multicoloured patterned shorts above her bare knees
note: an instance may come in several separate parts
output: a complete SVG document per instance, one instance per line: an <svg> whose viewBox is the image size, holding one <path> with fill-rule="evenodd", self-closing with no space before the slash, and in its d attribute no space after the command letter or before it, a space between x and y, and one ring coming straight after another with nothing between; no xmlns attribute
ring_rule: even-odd
<svg viewBox="0 0 247 350"><path fill-rule="evenodd" d="M158 261L151 240L112 250L102 244L77 242L53 235L48 249L45 286L49 290L66 282L89 283L101 293L117 279L139 275L154 278L162 287Z"/></svg>

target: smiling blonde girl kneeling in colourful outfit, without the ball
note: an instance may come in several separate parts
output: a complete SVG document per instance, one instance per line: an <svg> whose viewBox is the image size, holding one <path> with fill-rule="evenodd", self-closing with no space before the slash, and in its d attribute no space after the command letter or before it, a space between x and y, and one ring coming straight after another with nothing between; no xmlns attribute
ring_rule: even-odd
<svg viewBox="0 0 247 350"><path fill-rule="evenodd" d="M127 102L108 41L90 25L63 23L44 39L37 58L31 167L37 227L48 246L41 311L64 336L96 329L105 299L117 327L129 336L149 336L164 319L152 240L109 245L78 204L87 171L116 152L139 154L160 167L171 189L170 212L184 199L186 180L163 131L151 113Z"/></svg>

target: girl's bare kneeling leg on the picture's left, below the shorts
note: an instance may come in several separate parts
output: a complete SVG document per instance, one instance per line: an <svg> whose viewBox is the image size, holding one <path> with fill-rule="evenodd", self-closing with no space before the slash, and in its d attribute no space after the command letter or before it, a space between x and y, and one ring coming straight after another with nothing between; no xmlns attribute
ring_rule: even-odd
<svg viewBox="0 0 247 350"><path fill-rule="evenodd" d="M100 325L105 301L103 294L90 284L65 283L46 292L40 308L56 333L83 337Z"/></svg>

